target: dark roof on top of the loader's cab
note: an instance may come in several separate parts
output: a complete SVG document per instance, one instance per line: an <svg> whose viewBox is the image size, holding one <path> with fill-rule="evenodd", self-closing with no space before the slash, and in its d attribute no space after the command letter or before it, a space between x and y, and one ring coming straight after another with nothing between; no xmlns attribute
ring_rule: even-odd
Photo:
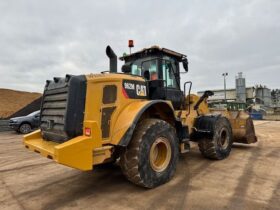
<svg viewBox="0 0 280 210"><path fill-rule="evenodd" d="M145 56L150 56L150 55L168 55L170 57L175 58L176 60L178 60L179 62L181 62L182 60L184 60L187 56L178 52L175 52L173 50L169 50L166 48L160 48L159 46L152 46L150 48L144 48L140 51L131 53L129 55L124 55L122 57L120 57L121 61L130 61L130 60L134 60L137 58L142 58Z"/></svg>

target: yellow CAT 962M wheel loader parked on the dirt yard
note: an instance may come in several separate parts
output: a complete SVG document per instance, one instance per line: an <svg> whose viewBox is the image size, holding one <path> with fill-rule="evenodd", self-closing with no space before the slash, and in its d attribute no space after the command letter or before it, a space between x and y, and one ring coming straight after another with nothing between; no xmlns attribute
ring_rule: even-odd
<svg viewBox="0 0 280 210"><path fill-rule="evenodd" d="M128 180L154 188L171 179L190 141L217 160L233 142L257 141L247 113L209 109L211 91L198 97L181 84L185 55L153 46L120 57L118 73L110 46L106 54L109 71L46 81L40 129L24 136L26 148L83 171L119 160Z"/></svg>

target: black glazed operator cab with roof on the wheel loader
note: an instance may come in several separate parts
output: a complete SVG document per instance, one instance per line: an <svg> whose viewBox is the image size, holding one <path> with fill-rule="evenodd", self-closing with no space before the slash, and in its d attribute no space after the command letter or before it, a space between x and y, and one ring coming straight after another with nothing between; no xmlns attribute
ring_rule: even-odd
<svg viewBox="0 0 280 210"><path fill-rule="evenodd" d="M142 76L147 81L149 99L169 100L175 109L180 109L184 95L180 88L180 68L182 62L187 71L185 55L157 46L120 58L125 63L122 71Z"/></svg>

